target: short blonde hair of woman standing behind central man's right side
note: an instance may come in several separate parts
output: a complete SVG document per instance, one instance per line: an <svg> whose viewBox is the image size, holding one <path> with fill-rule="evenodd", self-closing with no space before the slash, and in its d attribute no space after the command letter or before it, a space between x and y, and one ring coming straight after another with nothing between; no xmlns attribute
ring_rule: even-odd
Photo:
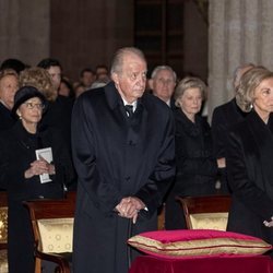
<svg viewBox="0 0 273 273"><path fill-rule="evenodd" d="M185 91L189 88L199 88L202 99L204 99L206 93L205 83L199 78L186 76L177 84L175 90L174 98L177 107L179 107L179 98L183 95Z"/></svg>

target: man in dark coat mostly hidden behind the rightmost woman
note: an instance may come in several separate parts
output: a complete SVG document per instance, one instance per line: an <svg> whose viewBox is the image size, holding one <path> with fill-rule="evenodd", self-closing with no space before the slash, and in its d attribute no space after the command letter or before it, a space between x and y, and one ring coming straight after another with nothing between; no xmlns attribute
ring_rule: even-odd
<svg viewBox="0 0 273 273"><path fill-rule="evenodd" d="M246 63L238 67L234 73L234 91L239 85L241 76L254 64ZM216 107L212 115L212 135L213 135L213 150L214 155L217 158L221 192L229 193L226 178L226 143L227 133L230 127L242 121L247 116L236 104L235 98L226 104Z"/></svg>

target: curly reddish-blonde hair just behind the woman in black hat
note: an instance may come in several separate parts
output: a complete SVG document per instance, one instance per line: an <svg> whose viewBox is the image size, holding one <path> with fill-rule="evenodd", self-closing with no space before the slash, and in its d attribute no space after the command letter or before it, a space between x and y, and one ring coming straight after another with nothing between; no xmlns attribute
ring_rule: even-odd
<svg viewBox="0 0 273 273"><path fill-rule="evenodd" d="M20 73L20 87L33 86L37 88L49 102L56 100L58 93L54 87L51 76L43 68L29 68Z"/></svg>

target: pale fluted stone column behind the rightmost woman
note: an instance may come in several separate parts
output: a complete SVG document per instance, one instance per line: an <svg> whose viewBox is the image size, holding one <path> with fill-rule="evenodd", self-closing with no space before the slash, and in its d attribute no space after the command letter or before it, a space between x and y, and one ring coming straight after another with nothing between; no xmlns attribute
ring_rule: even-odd
<svg viewBox="0 0 273 273"><path fill-rule="evenodd" d="M247 62L273 69L272 0L210 0L209 115L234 96L234 70Z"/></svg>

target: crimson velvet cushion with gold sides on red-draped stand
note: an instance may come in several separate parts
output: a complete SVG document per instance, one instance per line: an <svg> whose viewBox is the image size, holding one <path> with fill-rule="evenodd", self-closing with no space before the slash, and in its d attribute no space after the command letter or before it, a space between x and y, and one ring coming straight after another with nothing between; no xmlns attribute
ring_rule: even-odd
<svg viewBox="0 0 273 273"><path fill-rule="evenodd" d="M262 254L272 248L262 239L212 229L156 230L131 237L132 247L157 257Z"/></svg>

